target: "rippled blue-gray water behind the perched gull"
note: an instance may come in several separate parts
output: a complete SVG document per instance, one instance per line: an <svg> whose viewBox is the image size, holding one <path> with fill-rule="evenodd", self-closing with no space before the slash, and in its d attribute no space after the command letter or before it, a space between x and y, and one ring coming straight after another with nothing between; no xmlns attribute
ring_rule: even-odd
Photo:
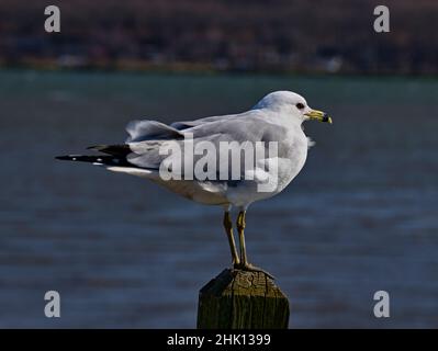
<svg viewBox="0 0 438 351"><path fill-rule="evenodd" d="M244 111L279 89L335 121L307 124L305 168L248 213L249 258L290 297L290 327L438 327L436 80L32 71L0 72L0 327L194 327L199 290L229 261L220 208L53 157L122 141L133 118Z"/></svg>

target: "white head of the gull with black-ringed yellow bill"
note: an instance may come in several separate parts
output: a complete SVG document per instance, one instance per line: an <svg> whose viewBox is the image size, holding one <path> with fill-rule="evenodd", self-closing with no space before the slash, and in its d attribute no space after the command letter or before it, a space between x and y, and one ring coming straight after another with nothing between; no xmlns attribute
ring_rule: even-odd
<svg viewBox="0 0 438 351"><path fill-rule="evenodd" d="M292 91L271 92L261 99L254 109L269 109L281 114L287 114L299 123L307 120L333 123L332 117L327 113L311 109L302 95Z"/></svg>

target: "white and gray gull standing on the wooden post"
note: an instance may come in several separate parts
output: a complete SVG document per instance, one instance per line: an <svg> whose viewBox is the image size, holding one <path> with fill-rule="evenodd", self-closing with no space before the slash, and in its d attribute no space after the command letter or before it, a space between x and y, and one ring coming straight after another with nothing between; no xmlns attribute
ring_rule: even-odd
<svg viewBox="0 0 438 351"><path fill-rule="evenodd" d="M104 167L109 171L146 178L192 201L222 206L224 208L223 226L229 244L233 268L265 272L249 263L247 258L246 212L251 203L279 194L299 174L305 163L307 149L313 143L306 137L302 126L303 122L308 120L333 123L327 113L311 109L300 94L292 91L274 91L263 97L249 111L239 114L175 122L170 125L148 120L133 121L126 126L128 138L124 144L97 145L88 148L99 151L98 156L68 155L56 158L89 162ZM162 165L166 163L166 159L168 160L168 155L164 155L162 149L168 149L172 145L182 148L188 139L194 148L205 143L213 145L213 151L206 156L207 162L204 166L217 166L217 163L222 166L223 161L217 161L221 159L221 155L217 154L222 143L228 143L231 151L242 145L257 143L271 145L273 143L277 146L277 152L273 156L265 154L257 156L256 152L252 163L238 162L242 167L237 178L199 177L193 176L193 169L186 168L177 171L179 178L162 177L162 169L166 169ZM186 154L189 152L183 149L177 156L182 159ZM192 158L200 161L205 156L204 154L194 155ZM218 173L217 169L209 172L210 176ZM229 172L225 176L229 176ZM271 181L272 179L274 182ZM267 182L271 184L269 191L260 191L260 185ZM239 252L236 249L231 216L233 206L238 208L236 228ZM272 278L268 272L265 273Z"/></svg>

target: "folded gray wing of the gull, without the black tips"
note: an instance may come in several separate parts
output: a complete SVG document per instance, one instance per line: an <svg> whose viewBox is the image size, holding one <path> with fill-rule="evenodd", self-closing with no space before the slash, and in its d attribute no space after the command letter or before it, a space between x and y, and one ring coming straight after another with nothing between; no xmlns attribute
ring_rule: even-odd
<svg viewBox="0 0 438 351"><path fill-rule="evenodd" d="M157 127L162 127L162 129L157 131ZM233 157L236 157L233 152L244 152L239 151L238 147L245 149L245 152L252 152L254 163L256 163L260 157L268 155L269 141L281 144L287 139L287 129L267 122L266 116L259 111L249 111L239 115L177 122L170 126L153 121L141 121L130 124L127 131L130 133L127 143L133 151L127 156L128 162L141 168L158 170L161 162L165 159L169 161L169 156L176 148L179 148L181 152L176 155L176 157L181 160L184 157L188 158L189 165L199 165L198 161L202 161L200 165L210 167L215 163L216 179L220 177L218 172L224 169L228 170L228 179L232 176L235 179L236 174L231 174L231 169L227 167L228 163L224 166L224 162L229 162ZM184 143L188 143L187 140L190 140L191 137L193 149L195 151L203 150L200 155L193 155L192 160L192 152L184 152L184 146L190 146L190 144L184 145ZM265 146L262 146L265 147L265 154L256 152L256 141L265 143ZM229 143L234 143L234 145ZM225 149L226 146L231 146L231 148ZM221 157L221 147L223 151L228 152L227 157L223 156L226 154ZM168 154L162 152L166 149L169 151ZM279 145L278 150L280 151L281 149ZM279 156L281 157L281 155ZM240 176L251 167L254 168L254 165L248 165L243 157L240 158ZM183 167L180 170L181 177L184 177Z"/></svg>

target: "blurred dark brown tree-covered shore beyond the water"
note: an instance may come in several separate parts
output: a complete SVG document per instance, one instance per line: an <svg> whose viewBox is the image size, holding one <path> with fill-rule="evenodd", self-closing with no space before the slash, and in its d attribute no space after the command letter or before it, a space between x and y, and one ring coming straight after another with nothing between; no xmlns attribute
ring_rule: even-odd
<svg viewBox="0 0 438 351"><path fill-rule="evenodd" d="M46 1L0 2L0 65L250 71L437 73L438 2L58 1L61 33L44 32Z"/></svg>

